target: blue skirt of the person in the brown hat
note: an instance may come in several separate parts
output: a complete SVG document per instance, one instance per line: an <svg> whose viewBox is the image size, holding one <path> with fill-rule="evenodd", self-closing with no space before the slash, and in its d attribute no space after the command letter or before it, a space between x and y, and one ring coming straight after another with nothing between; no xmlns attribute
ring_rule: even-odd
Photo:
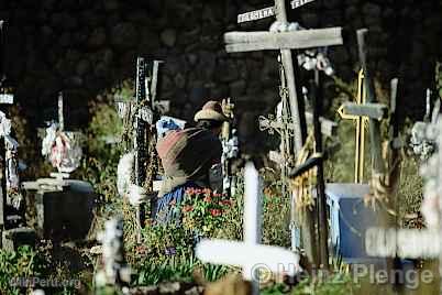
<svg viewBox="0 0 442 295"><path fill-rule="evenodd" d="M194 182L187 182L157 199L154 215L154 220L157 225L166 225L168 222L179 223L179 204L185 199L188 188L200 187Z"/></svg>

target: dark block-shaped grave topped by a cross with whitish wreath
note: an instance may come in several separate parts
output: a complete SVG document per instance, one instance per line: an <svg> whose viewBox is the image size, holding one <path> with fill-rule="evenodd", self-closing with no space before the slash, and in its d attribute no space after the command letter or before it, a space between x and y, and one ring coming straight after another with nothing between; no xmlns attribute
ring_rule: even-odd
<svg viewBox="0 0 442 295"><path fill-rule="evenodd" d="M57 170L48 178L23 183L35 207L37 234L45 239L84 240L92 225L96 194L90 183L70 179L69 174L80 164L81 134L65 131L63 94L58 96L58 122L46 129L42 153Z"/></svg>

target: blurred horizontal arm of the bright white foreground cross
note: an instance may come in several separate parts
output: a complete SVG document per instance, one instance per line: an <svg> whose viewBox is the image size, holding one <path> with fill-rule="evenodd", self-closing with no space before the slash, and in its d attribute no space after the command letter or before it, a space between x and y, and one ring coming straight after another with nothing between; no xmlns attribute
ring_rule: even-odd
<svg viewBox="0 0 442 295"><path fill-rule="evenodd" d="M205 263L265 269L273 273L296 275L301 271L299 255L280 248L228 240L202 240L196 253ZM250 275L250 274L248 274Z"/></svg>

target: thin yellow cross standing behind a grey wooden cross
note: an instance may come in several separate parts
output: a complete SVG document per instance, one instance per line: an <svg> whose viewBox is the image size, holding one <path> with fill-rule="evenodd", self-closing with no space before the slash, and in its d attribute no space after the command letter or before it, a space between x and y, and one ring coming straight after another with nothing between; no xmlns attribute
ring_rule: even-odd
<svg viewBox="0 0 442 295"><path fill-rule="evenodd" d="M361 69L357 76L357 95L356 103L365 105L366 95L364 90L364 72ZM364 155L365 155L365 125L368 122L367 117L357 114L347 114L344 111L344 106L338 109L338 113L342 119L353 120L356 122L356 135L355 135L355 155L354 155L354 183L362 184L364 182Z"/></svg>

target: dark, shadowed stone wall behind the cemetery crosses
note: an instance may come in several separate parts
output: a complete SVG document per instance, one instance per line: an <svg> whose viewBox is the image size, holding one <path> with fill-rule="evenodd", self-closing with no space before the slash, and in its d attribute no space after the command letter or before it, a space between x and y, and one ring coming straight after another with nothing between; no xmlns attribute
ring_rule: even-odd
<svg viewBox="0 0 442 295"><path fill-rule="evenodd" d="M401 78L405 112L419 119L424 88L432 85L442 53L442 1L317 0L290 12L307 28L344 26L345 46L329 54L339 77L356 77L355 30L373 32L369 58L378 79ZM267 30L272 20L236 24L236 14L266 0L1 0L8 23L5 73L30 122L56 114L65 92L67 124L85 125L88 101L134 76L139 55L165 61L161 95L173 114L190 119L208 98L232 97L240 134L259 148L256 117L278 101L276 53L228 55L222 35ZM288 4L288 3L287 3Z"/></svg>

